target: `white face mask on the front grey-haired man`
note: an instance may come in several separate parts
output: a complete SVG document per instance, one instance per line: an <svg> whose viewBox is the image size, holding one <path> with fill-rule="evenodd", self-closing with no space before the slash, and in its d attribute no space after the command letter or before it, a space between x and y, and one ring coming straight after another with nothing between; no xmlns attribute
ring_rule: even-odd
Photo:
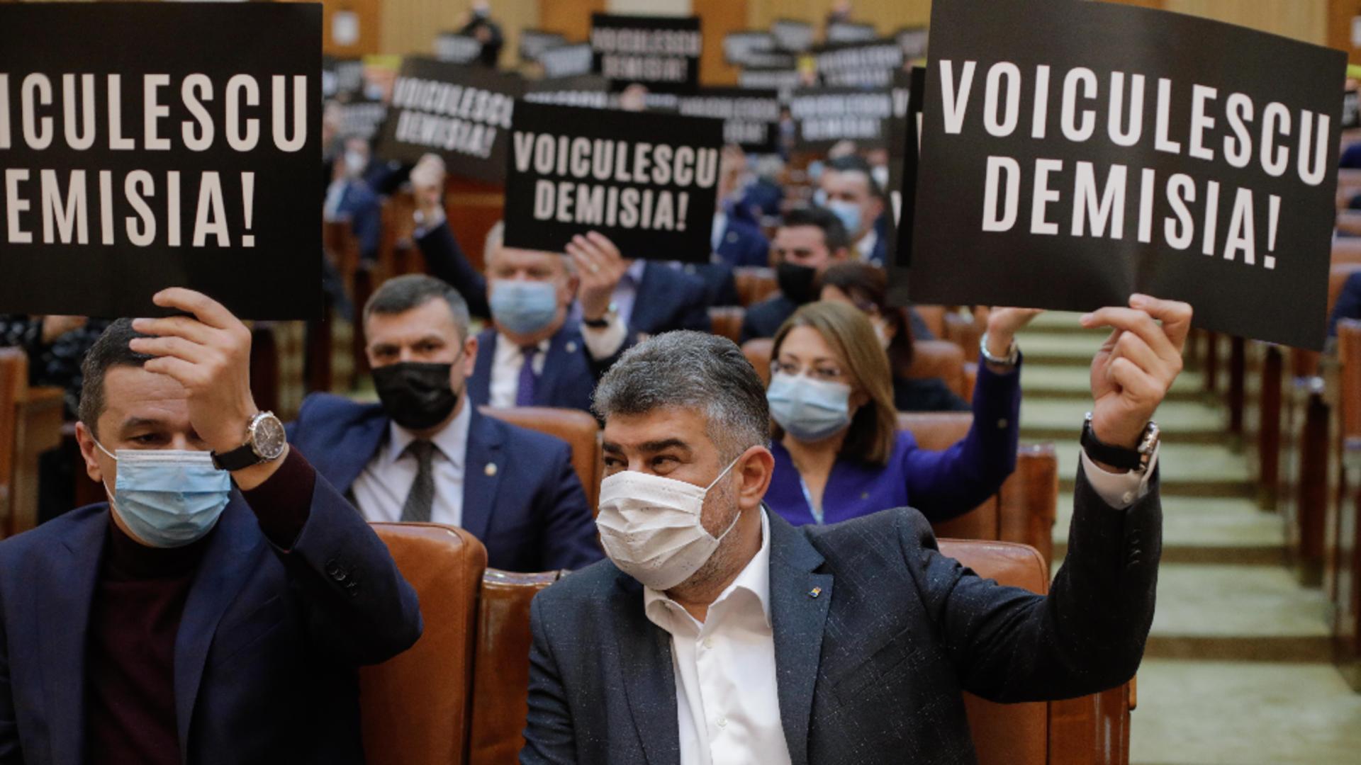
<svg viewBox="0 0 1361 765"><path fill-rule="evenodd" d="M694 576L742 517L736 513L719 536L709 534L700 520L704 498L735 464L738 460L728 463L708 486L636 470L602 481L596 528L614 565L657 591Z"/></svg>

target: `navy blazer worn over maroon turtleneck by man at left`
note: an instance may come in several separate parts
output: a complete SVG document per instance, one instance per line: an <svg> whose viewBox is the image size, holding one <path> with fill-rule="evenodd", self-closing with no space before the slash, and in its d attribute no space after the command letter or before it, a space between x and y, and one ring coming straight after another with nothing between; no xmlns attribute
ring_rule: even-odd
<svg viewBox="0 0 1361 765"><path fill-rule="evenodd" d="M101 502L0 542L0 762L86 760L86 629L109 523ZM287 551L233 491L176 637L184 761L361 765L355 668L421 629L387 546L320 475Z"/></svg>

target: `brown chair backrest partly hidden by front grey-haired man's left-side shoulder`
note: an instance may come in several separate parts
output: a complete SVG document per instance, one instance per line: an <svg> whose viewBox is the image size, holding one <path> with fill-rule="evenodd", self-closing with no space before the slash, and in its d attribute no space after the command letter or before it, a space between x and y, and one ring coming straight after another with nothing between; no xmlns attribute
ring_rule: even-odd
<svg viewBox="0 0 1361 765"><path fill-rule="evenodd" d="M487 569L478 603L468 765L514 762L524 746L529 687L529 602L566 572Z"/></svg>

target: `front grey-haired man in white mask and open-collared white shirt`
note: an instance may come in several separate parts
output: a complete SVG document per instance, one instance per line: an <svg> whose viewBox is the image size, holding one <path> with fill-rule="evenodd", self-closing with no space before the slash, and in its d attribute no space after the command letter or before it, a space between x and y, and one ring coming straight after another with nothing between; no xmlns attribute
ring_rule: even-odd
<svg viewBox="0 0 1361 765"><path fill-rule="evenodd" d="M791 527L762 502L769 412L738 347L675 332L626 353L595 402L608 561L534 600L520 761L972 762L962 691L1037 701L1126 682L1161 547L1150 418L1191 306L1134 295L1082 324L1113 332L1092 363L1049 596L943 557L913 509Z"/></svg>

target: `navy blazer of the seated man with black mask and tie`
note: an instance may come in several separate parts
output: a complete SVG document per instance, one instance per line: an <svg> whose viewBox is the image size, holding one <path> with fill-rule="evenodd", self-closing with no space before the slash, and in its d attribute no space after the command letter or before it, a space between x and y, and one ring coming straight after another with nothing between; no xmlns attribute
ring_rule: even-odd
<svg viewBox="0 0 1361 765"><path fill-rule="evenodd" d="M572 468L572 448L476 408L471 415L461 525L487 549L487 565L544 572L599 561L595 521ZM313 393L289 425L289 441L313 455L317 472L332 486L350 493L387 442L389 423L381 404Z"/></svg>

